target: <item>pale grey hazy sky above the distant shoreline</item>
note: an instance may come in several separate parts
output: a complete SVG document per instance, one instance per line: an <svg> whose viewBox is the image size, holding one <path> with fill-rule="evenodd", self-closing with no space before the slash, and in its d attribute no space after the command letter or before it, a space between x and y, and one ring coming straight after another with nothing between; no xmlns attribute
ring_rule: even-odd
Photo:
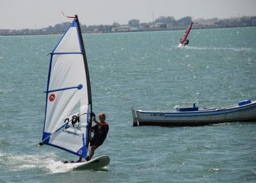
<svg viewBox="0 0 256 183"><path fill-rule="evenodd" d="M194 20L256 15L256 0L0 0L0 29L40 29L68 22L77 14L81 24L152 22L160 16Z"/></svg>

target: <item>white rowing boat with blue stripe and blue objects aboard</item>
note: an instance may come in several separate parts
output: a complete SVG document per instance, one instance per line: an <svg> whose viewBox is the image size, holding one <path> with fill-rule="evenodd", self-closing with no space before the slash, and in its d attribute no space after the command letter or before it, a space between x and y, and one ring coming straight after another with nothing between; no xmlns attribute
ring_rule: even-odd
<svg viewBox="0 0 256 183"><path fill-rule="evenodd" d="M256 122L256 101L242 100L233 107L198 109L177 107L176 111L132 110L133 125L198 126L225 122Z"/></svg>

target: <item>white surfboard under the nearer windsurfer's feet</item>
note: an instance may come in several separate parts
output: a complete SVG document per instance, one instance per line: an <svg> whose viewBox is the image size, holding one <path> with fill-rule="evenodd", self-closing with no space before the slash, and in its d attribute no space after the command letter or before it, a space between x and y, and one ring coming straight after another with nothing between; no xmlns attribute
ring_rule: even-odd
<svg viewBox="0 0 256 183"><path fill-rule="evenodd" d="M97 170L108 166L110 159L108 155L100 155L90 161L84 161L81 163L67 163L68 166L72 166L74 170Z"/></svg>

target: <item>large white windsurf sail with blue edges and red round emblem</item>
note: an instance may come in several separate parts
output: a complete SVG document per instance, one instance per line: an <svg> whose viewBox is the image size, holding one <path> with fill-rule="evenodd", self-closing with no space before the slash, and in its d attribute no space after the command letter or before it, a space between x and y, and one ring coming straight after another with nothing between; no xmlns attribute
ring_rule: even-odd
<svg viewBox="0 0 256 183"><path fill-rule="evenodd" d="M77 15L51 52L42 143L86 157L92 94Z"/></svg>

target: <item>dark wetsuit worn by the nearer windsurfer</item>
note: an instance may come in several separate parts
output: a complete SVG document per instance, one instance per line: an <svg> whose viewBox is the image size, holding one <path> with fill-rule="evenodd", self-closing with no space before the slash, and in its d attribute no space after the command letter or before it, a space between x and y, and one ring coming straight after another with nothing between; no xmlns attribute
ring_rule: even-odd
<svg viewBox="0 0 256 183"><path fill-rule="evenodd" d="M94 131L93 138L91 139L91 146L95 145L97 148L102 145L108 134L108 123L100 123L100 125L94 125L92 131Z"/></svg>

